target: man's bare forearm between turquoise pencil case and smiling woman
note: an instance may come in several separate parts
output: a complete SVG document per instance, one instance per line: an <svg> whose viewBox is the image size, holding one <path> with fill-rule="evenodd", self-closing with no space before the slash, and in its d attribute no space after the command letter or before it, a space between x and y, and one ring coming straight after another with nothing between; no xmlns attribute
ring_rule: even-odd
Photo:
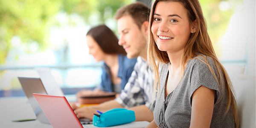
<svg viewBox="0 0 256 128"><path fill-rule="evenodd" d="M154 115L152 111L149 110L148 107L145 105L135 106L132 108L129 108L129 110L132 110L135 112L135 121L148 121L151 122L154 119Z"/></svg>

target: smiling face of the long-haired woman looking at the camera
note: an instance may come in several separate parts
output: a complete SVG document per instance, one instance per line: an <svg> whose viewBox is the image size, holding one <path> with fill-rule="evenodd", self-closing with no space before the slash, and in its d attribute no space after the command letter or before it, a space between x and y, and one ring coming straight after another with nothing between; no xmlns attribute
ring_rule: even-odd
<svg viewBox="0 0 256 128"><path fill-rule="evenodd" d="M151 32L157 47L168 53L183 52L190 33L186 9L178 2L158 2L153 14Z"/></svg>

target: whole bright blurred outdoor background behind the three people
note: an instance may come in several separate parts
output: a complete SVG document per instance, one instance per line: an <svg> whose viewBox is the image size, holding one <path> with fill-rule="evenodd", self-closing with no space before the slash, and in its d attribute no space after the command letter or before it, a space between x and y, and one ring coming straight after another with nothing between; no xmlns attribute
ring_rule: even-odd
<svg viewBox="0 0 256 128"><path fill-rule="evenodd" d="M255 76L255 0L199 1L222 64L245 66ZM64 94L97 86L102 62L88 54L86 33L104 23L119 37L113 16L134 2L0 0L0 97L25 96L17 77L39 77L35 67L50 68Z"/></svg>

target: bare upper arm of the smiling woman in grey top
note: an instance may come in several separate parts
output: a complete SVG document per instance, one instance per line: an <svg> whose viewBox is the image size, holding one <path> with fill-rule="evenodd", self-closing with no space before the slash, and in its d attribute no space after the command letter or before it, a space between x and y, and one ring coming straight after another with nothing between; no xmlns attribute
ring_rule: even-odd
<svg viewBox="0 0 256 128"><path fill-rule="evenodd" d="M192 95L189 128L209 128L212 120L215 90L200 86Z"/></svg>

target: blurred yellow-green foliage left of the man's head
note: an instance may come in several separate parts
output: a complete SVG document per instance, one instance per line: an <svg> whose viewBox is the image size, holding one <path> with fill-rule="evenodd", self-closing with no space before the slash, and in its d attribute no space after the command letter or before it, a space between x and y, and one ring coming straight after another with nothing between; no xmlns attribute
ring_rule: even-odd
<svg viewBox="0 0 256 128"><path fill-rule="evenodd" d="M0 0L0 64L12 49L14 36L23 44L38 44L39 50L49 46L51 26L58 26L58 12L76 13L90 25L91 14L99 14L100 22L113 18L116 10L134 0ZM72 24L72 23L71 23ZM35 50L26 49L27 53ZM15 55L18 58L18 53Z"/></svg>

